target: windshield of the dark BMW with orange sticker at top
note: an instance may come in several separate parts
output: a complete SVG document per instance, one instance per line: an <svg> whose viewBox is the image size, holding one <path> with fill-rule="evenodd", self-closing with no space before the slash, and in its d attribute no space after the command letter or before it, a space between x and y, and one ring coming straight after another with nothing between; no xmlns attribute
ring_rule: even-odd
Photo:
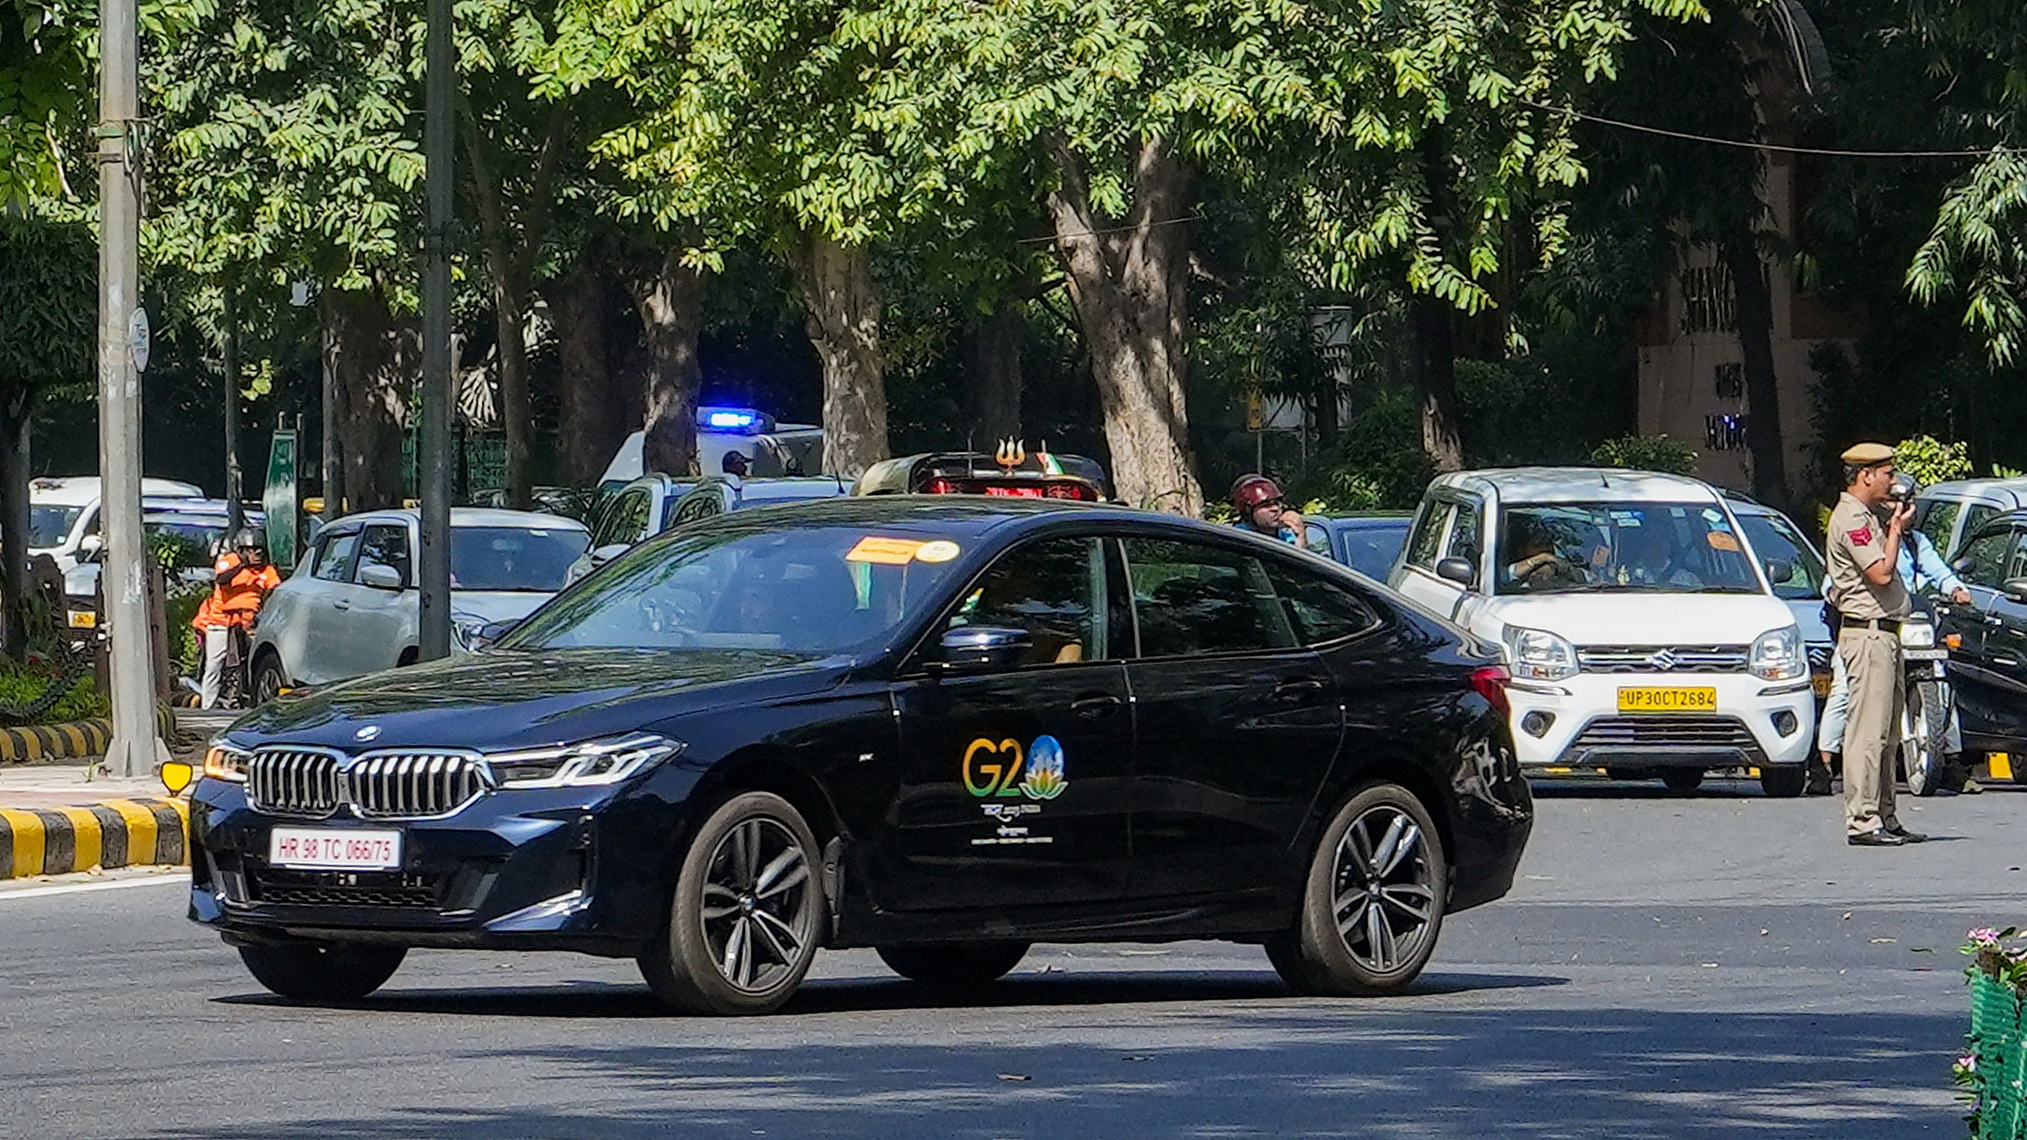
<svg viewBox="0 0 2027 1140"><path fill-rule="evenodd" d="M671 531L539 609L501 648L851 652L886 644L930 603L957 553L868 526Z"/></svg>

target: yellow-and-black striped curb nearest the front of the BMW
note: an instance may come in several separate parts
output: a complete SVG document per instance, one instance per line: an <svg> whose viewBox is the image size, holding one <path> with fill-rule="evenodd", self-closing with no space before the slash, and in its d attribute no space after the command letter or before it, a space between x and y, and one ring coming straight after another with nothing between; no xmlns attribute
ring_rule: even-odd
<svg viewBox="0 0 2027 1140"><path fill-rule="evenodd" d="M0 879L191 861L189 800L0 808Z"/></svg>

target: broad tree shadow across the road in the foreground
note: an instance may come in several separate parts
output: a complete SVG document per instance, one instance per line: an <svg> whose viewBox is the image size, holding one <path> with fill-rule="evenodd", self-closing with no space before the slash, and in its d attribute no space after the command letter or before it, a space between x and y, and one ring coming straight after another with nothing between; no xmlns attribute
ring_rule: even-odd
<svg viewBox="0 0 2027 1140"><path fill-rule="evenodd" d="M864 998L900 988L821 990ZM1269 996L1267 986L1232 982L1212 990ZM1958 1019L1881 1012L1431 1012L1283 1002L1174 1019L1155 1045L1141 1033L1123 1045L1038 1041L1020 1019L1007 1019L1003 1041L991 1045L920 1043L880 1029L827 1033L809 1045L584 1041L466 1053L470 1065L513 1073L525 1106L359 1106L334 1118L261 1124L259 1134L1715 1140L1774 1132L1899 1140L1962 1128L1946 1053L1960 1037ZM162 1132L184 1140L241 1134L207 1124Z"/></svg>

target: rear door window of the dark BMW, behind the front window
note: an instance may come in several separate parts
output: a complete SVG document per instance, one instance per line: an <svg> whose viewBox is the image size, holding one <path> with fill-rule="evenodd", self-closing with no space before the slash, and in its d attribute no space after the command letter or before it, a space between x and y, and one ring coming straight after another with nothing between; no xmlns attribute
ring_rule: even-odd
<svg viewBox="0 0 2027 1140"><path fill-rule="evenodd" d="M1141 656L1295 646L1267 567L1253 555L1155 539L1127 539L1125 549Z"/></svg>

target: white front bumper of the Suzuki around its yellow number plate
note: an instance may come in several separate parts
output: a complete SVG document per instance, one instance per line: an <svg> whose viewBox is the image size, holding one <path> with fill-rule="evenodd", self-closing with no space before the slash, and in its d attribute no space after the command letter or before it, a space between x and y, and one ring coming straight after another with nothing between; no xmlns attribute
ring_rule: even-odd
<svg viewBox="0 0 2027 1140"><path fill-rule="evenodd" d="M1703 713L1622 713L1620 688L1715 688ZM1751 674L1585 672L1516 680L1514 749L1520 767L1782 767L1808 763L1816 729L1810 678Z"/></svg>

